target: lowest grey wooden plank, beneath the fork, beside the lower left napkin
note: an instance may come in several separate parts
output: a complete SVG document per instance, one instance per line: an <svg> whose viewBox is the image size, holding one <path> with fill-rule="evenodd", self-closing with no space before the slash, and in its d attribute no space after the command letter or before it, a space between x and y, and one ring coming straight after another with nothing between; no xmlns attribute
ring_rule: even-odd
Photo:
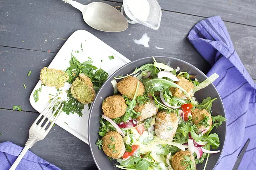
<svg viewBox="0 0 256 170"><path fill-rule="evenodd" d="M28 130L38 113L0 110L0 143L11 141L25 146ZM14 123L15 122L15 123ZM89 145L55 125L42 141L29 149L61 169L92 170L97 169L90 154Z"/></svg>

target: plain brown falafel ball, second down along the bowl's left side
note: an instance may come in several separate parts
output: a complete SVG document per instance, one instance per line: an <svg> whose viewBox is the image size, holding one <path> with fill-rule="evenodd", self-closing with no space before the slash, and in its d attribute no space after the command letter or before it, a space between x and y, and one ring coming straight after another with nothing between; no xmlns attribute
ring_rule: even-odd
<svg viewBox="0 0 256 170"><path fill-rule="evenodd" d="M127 105L121 95L109 96L102 103L105 116L115 119L124 115Z"/></svg>

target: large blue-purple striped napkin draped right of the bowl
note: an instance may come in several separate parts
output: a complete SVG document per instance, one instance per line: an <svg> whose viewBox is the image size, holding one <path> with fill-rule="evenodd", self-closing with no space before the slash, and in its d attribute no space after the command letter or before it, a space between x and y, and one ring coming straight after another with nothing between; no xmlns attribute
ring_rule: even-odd
<svg viewBox="0 0 256 170"><path fill-rule="evenodd" d="M248 138L251 139L239 166L256 169L256 85L238 57L220 16L197 23L189 41L212 66L207 76L217 73L214 82L224 104L227 137L215 169L231 170Z"/></svg>

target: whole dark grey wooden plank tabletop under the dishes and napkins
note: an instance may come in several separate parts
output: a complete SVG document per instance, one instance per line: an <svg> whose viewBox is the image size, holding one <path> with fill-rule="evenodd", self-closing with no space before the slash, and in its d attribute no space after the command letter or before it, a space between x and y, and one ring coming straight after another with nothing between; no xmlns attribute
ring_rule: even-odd
<svg viewBox="0 0 256 170"><path fill-rule="evenodd" d="M83 4L93 2L78 1ZM117 9L122 6L122 0L104 2ZM0 0L0 143L11 141L25 145L28 129L38 116L29 104L29 95L39 80L40 70L49 65L66 39L79 29L91 32L130 60L171 56L207 73L210 65L189 43L187 35L198 21L220 15L245 68L256 79L255 1L159 2L162 7L159 30L130 24L126 31L106 33L90 28L77 9L61 0ZM150 37L149 48L133 42L145 32ZM155 46L164 49L159 50ZM28 77L29 70L32 74ZM13 111L13 105L21 105L22 111ZM31 151L61 169L96 169L89 146L59 126L55 126L46 139L36 143Z"/></svg>

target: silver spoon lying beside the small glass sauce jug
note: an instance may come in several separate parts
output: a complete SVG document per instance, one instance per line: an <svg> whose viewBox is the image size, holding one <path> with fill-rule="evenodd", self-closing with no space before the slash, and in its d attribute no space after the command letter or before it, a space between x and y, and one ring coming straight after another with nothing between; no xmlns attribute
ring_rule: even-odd
<svg viewBox="0 0 256 170"><path fill-rule="evenodd" d="M128 28L125 17L114 7L103 2L82 5L72 0L62 0L79 9L83 20L92 28L105 32L120 32Z"/></svg>

